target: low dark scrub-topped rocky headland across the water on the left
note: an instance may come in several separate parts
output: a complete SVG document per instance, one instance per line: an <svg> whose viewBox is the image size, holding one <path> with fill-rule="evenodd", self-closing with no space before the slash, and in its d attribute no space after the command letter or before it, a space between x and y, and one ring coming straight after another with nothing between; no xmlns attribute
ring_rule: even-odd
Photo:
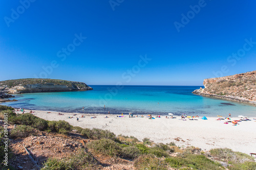
<svg viewBox="0 0 256 170"><path fill-rule="evenodd" d="M0 93L33 93L92 90L86 83L56 79L16 79L0 81Z"/></svg>

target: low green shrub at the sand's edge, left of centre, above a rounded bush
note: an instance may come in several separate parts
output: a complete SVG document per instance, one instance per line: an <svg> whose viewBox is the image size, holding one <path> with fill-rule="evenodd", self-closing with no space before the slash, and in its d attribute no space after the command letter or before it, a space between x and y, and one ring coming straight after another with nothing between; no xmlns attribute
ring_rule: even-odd
<svg viewBox="0 0 256 170"><path fill-rule="evenodd" d="M95 128L92 130L84 129L82 130L81 134L94 140L105 138L105 139L111 139L114 141L119 141L116 138L116 135L113 132L110 132L108 130L101 130L101 129L95 129Z"/></svg>

